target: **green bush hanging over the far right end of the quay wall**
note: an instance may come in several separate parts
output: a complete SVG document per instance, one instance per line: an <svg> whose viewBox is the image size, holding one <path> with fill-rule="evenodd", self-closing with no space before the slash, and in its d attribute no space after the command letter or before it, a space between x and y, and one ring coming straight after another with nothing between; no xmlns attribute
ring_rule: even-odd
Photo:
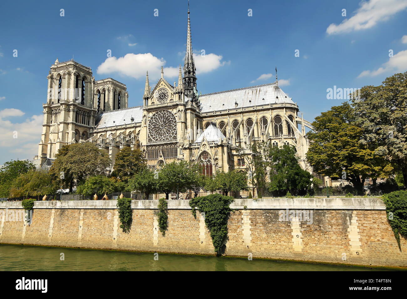
<svg viewBox="0 0 407 299"><path fill-rule="evenodd" d="M407 236L407 191L385 194L383 201L386 205L387 219L401 251L400 235Z"/></svg>

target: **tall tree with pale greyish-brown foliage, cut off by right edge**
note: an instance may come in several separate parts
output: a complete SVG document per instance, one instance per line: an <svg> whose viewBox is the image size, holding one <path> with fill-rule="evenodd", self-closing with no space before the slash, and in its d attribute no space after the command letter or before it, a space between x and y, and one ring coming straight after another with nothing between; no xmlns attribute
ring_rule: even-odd
<svg viewBox="0 0 407 299"><path fill-rule="evenodd" d="M407 72L394 74L379 86L364 86L352 100L361 143L384 156L407 186Z"/></svg>

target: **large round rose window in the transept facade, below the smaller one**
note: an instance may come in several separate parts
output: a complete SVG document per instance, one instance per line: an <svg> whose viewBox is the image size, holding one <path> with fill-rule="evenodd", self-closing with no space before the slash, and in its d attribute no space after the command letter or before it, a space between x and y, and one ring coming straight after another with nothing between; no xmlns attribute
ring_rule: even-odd
<svg viewBox="0 0 407 299"><path fill-rule="evenodd" d="M168 110L157 111L149 121L149 142L177 140L177 120Z"/></svg>

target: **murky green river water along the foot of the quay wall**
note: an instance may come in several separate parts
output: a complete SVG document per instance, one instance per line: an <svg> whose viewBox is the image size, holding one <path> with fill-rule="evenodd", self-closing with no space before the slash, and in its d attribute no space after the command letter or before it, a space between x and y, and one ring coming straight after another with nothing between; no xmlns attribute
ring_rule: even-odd
<svg viewBox="0 0 407 299"><path fill-rule="evenodd" d="M61 260L61 253L65 260ZM0 271L378 271L247 258L0 244Z"/></svg>

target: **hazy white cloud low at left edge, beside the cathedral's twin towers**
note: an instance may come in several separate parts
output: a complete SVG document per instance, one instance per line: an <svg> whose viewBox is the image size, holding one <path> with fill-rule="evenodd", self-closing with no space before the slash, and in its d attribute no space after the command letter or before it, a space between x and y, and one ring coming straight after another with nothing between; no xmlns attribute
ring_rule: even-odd
<svg viewBox="0 0 407 299"><path fill-rule="evenodd" d="M6 160L33 159L37 155L43 116L33 115L23 122L12 122L9 119L24 114L14 108L0 110L0 153Z"/></svg>

